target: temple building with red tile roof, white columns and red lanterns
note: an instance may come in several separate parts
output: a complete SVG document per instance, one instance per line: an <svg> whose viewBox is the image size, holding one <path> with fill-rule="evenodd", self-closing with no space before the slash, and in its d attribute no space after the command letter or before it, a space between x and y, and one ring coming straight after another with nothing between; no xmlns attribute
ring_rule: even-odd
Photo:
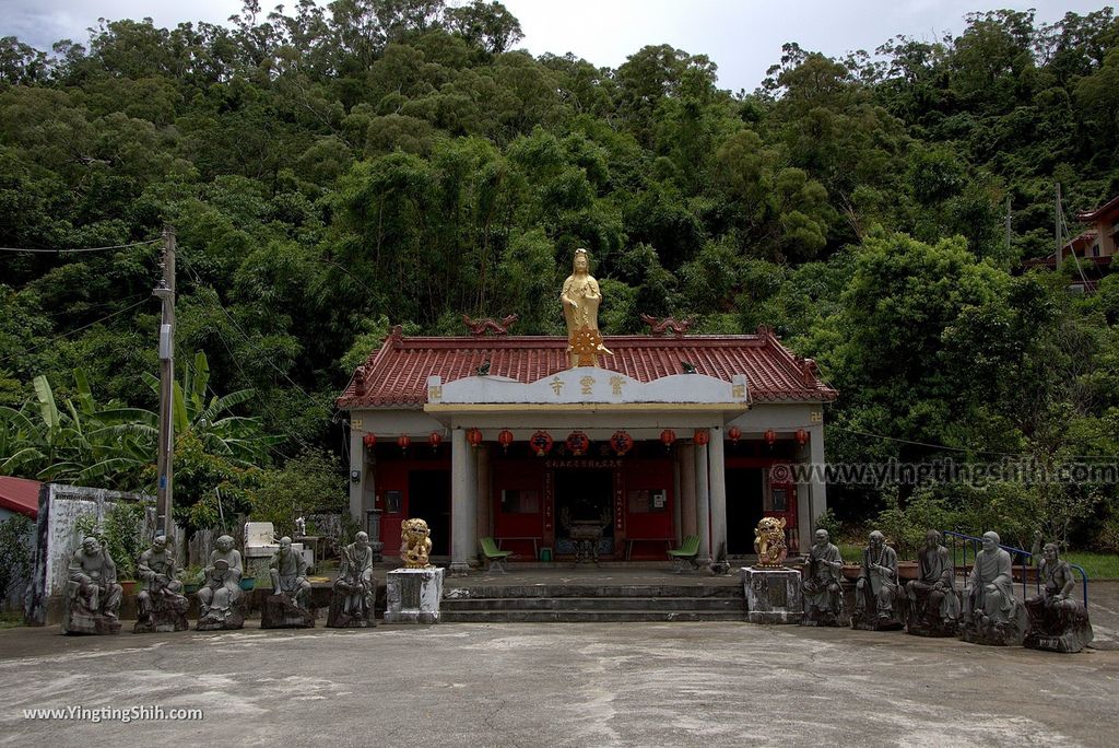
<svg viewBox="0 0 1119 748"><path fill-rule="evenodd" d="M792 467L822 466L837 393L771 330L608 337L601 368L570 368L565 338L488 329L397 327L338 398L350 511L370 540L395 549L401 523L424 518L452 571L486 536L521 560L664 560L698 534L709 559L752 553L772 515L808 548L824 480Z"/></svg>

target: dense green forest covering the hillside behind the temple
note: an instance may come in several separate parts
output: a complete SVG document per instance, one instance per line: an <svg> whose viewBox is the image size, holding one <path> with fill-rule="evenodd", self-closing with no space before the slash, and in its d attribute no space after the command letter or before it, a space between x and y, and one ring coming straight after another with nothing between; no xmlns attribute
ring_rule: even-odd
<svg viewBox="0 0 1119 748"><path fill-rule="evenodd" d="M248 0L231 20L0 39L0 246L175 227L191 523L214 485L278 502L301 467L337 470L333 398L389 325L561 333L576 246L608 335L641 312L765 324L815 357L841 393L829 460L1119 454L1119 274L1081 296L1071 263L1023 267L1053 251L1056 183L1070 215L1119 194L1110 8L980 12L843 59L787 44L737 94L669 46L617 69L533 57L497 2ZM159 255L0 251L0 471L151 486ZM830 496L895 536L1042 526L1119 549L1115 485Z"/></svg>

